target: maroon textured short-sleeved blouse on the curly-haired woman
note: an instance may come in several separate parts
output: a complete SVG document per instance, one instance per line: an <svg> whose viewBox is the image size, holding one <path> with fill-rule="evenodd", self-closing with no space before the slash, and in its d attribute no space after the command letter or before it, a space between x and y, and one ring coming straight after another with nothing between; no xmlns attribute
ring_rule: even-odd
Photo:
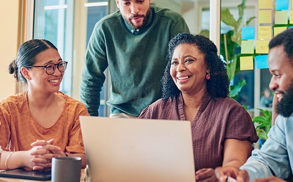
<svg viewBox="0 0 293 182"><path fill-rule="evenodd" d="M183 97L159 99L147 106L139 116L145 119L186 120ZM258 137L250 115L230 97L216 98L207 93L191 123L195 171L222 166L224 140L234 138L256 142Z"/></svg>

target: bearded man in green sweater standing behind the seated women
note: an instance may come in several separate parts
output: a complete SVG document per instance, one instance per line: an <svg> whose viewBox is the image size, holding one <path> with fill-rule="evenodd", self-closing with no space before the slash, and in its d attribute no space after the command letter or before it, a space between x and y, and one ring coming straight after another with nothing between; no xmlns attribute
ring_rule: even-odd
<svg viewBox="0 0 293 182"><path fill-rule="evenodd" d="M116 0L118 11L96 24L86 52L80 86L81 101L98 116L100 91L108 67L111 76L110 117L137 117L161 96L160 80L167 46L181 32L183 17L152 0Z"/></svg>

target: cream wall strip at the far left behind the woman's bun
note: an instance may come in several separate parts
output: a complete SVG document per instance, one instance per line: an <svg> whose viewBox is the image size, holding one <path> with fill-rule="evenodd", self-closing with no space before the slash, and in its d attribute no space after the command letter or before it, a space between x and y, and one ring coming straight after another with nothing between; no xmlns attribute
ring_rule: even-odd
<svg viewBox="0 0 293 182"><path fill-rule="evenodd" d="M18 0L0 0L0 99L15 94L16 82L8 64L16 58L18 40Z"/></svg>

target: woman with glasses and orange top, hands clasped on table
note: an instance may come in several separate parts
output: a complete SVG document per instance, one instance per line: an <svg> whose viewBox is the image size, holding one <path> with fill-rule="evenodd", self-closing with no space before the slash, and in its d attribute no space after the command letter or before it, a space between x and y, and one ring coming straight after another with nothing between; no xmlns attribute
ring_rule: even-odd
<svg viewBox="0 0 293 182"><path fill-rule="evenodd" d="M27 83L23 91L0 101L0 169L50 170L53 157L76 156L86 166L79 116L81 102L59 91L67 62L47 40L23 43L9 73Z"/></svg>

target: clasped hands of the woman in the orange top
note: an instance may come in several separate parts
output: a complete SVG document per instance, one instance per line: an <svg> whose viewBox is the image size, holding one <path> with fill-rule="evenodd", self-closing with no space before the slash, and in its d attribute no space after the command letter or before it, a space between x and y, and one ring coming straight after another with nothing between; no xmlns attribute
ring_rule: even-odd
<svg viewBox="0 0 293 182"><path fill-rule="evenodd" d="M28 152L31 160L28 167L33 170L48 171L51 169L52 158L61 156L60 147L53 145L54 139L37 140L31 143L32 149Z"/></svg>

